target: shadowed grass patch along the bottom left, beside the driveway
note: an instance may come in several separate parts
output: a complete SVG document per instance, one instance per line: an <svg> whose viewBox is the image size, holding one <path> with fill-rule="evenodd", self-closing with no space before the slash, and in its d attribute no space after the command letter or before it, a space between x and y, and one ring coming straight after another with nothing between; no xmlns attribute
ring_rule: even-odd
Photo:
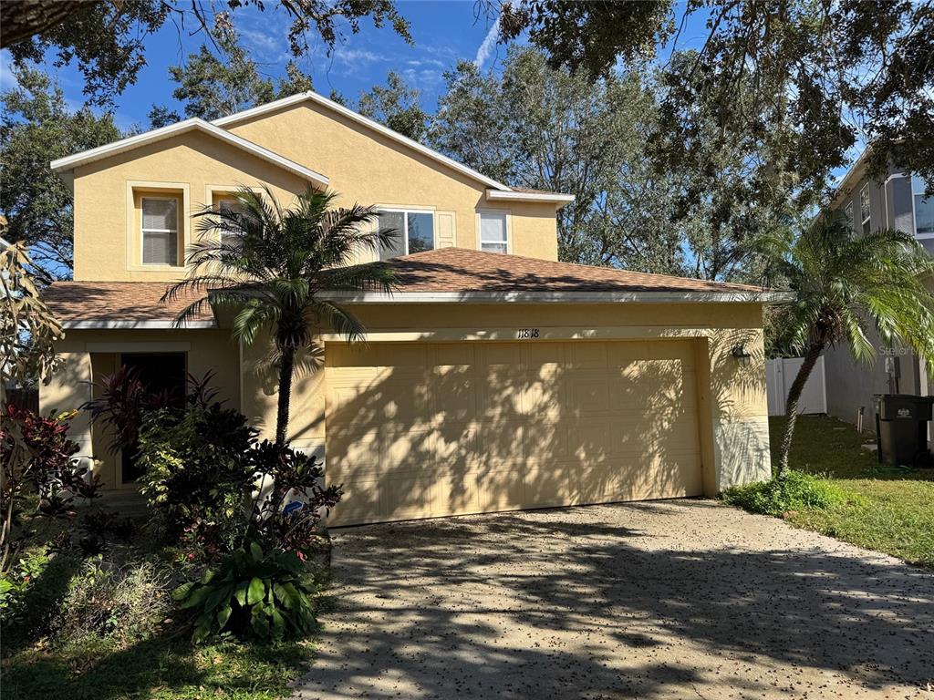
<svg viewBox="0 0 934 700"><path fill-rule="evenodd" d="M4 694L21 700L274 700L290 694L312 656L307 643L192 647L154 637L120 649L89 637L56 651L21 651L4 661Z"/></svg>

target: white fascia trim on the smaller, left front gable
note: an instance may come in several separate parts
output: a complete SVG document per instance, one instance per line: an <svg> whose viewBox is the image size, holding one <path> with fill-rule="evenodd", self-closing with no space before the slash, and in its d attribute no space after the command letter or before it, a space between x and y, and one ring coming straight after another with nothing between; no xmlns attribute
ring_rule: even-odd
<svg viewBox="0 0 934 700"><path fill-rule="evenodd" d="M331 183L331 180L329 180L325 175L321 175L320 173L317 173L310 168L304 167L304 165L300 165L295 161L290 161L288 158L280 156L278 153L274 153L268 148L254 144L252 141L248 141L247 139L230 133L224 129L219 129L218 127L214 126L214 124L196 117L192 119L185 119L184 121L179 121L177 124L164 126L162 129L154 129L151 132L137 133L135 136L130 136L129 138L124 138L120 141L115 141L114 143L107 144L106 146L92 148L90 150L76 153L73 156L67 156L65 158L60 158L57 161L51 161L50 167L56 172L74 170L78 167L78 165L84 165L85 163L93 161L100 161L103 158L107 158L118 153L124 153L126 151L133 150L134 148L145 146L146 144L154 143L156 141L162 141L163 139L175 136L179 133L195 130L208 133L216 138L219 138L221 141L226 141L232 146L242 148L243 150L253 154L263 161L271 162L274 165L278 165L280 168L283 168L284 170L288 170L290 173L294 173L295 175L299 175L313 182L317 182L318 185L321 185L322 187L327 187Z"/></svg>

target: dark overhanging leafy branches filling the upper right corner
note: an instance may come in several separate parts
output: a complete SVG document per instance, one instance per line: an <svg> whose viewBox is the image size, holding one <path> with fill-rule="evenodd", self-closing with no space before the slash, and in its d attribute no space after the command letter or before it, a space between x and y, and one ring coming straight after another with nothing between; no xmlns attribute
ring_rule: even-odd
<svg viewBox="0 0 934 700"><path fill-rule="evenodd" d="M860 138L873 144L877 174L894 160L934 185L931 0L485 5L499 16L502 41L528 35L552 65L592 79L620 61L696 49L680 89L665 96L671 114L693 107L714 116L749 158L762 157L755 146L763 134L782 139L785 160L769 166L792 173L805 199L819 194L829 170L846 161ZM663 70L678 73L667 61ZM692 139L692 120L670 126L680 150L695 158L703 145Z"/></svg>

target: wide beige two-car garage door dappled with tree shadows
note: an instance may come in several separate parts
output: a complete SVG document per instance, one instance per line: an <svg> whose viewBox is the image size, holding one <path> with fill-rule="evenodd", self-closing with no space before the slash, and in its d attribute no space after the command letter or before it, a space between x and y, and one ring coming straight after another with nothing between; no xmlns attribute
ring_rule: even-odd
<svg viewBox="0 0 934 700"><path fill-rule="evenodd" d="M329 343L333 525L701 494L690 341Z"/></svg>

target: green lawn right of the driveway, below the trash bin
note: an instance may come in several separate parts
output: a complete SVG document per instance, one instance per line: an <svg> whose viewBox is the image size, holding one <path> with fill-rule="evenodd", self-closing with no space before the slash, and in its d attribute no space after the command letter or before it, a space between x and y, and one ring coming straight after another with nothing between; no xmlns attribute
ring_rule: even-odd
<svg viewBox="0 0 934 700"><path fill-rule="evenodd" d="M771 418L772 458L785 428ZM846 501L791 514L793 525L934 568L934 469L891 469L861 445L874 438L823 415L798 419L791 468L826 476Z"/></svg>

